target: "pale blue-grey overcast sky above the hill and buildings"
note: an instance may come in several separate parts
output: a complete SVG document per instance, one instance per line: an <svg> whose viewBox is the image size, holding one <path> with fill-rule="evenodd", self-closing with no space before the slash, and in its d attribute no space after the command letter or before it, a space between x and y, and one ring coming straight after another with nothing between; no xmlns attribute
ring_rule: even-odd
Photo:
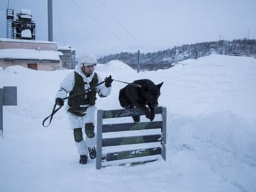
<svg viewBox="0 0 256 192"><path fill-rule="evenodd" d="M158 51L224 38L255 38L255 0L52 0L54 41L96 56ZM6 37L7 0L0 1L0 37ZM47 0L9 0L30 9L36 40L48 40Z"/></svg>

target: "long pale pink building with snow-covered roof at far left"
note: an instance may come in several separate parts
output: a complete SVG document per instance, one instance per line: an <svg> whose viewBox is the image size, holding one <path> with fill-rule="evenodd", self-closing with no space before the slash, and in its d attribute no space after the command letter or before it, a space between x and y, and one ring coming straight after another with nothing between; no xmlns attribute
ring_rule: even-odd
<svg viewBox="0 0 256 192"><path fill-rule="evenodd" d="M26 68L52 71L62 68L57 43L50 41L0 38L0 66L21 65Z"/></svg>

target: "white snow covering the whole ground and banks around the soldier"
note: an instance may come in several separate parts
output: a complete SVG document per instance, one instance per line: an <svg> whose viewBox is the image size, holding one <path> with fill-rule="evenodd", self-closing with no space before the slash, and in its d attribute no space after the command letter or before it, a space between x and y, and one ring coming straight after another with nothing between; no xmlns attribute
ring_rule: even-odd
<svg viewBox="0 0 256 192"><path fill-rule="evenodd" d="M210 55L139 74L115 60L96 70L124 82L164 82L159 105L168 110L166 162L100 170L95 160L80 165L64 110L48 129L41 126L71 70L12 66L0 70L0 87L18 87L18 105L4 107L1 191L256 191L256 59ZM98 108L120 108L124 86L113 82Z"/></svg>

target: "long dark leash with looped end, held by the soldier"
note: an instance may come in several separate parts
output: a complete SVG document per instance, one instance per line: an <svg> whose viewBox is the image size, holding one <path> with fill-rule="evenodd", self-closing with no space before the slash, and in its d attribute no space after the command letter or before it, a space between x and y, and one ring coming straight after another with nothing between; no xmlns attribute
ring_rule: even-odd
<svg viewBox="0 0 256 192"><path fill-rule="evenodd" d="M140 87L140 88L141 88L141 85L139 85L139 84L127 83L127 82L124 82L124 81L121 81L121 80L116 80L116 79L113 79L113 80L115 80L115 81L117 81L117 82L121 82L121 83L123 83L123 84L128 84L128 85L132 85L132 86L134 86L134 87ZM91 90L91 89L93 89L93 88L95 88L95 87L97 87L97 86L99 86L99 85L101 85L101 84L104 84L104 83L105 83L105 80L102 81L102 82L100 82L100 83L97 84L97 85L94 85L93 87L88 88L88 89L85 90L85 91L89 91L89 90ZM83 94L83 93L82 93L82 94ZM67 96L66 98L62 98L62 100L65 100L65 99L68 99L68 98L74 98L74 97L80 96L80 95L82 95L82 94L80 93L80 94L74 94L73 96ZM54 114L57 113L57 111L59 111L60 108L63 107L63 106L60 106L59 108L55 109L56 106L57 106L57 104L54 104L54 107L52 108L52 113L51 113L51 115L47 116L47 117L43 120L42 125L43 125L44 127L48 127L48 126L51 124L52 118L53 118ZM50 118L49 124L48 124L47 126L45 126L44 123L45 123L45 121L47 121L47 119L49 119L49 118Z"/></svg>

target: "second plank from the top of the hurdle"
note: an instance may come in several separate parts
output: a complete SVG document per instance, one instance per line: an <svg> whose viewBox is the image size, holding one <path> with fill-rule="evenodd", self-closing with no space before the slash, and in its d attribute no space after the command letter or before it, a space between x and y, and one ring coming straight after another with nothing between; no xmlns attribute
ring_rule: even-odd
<svg viewBox="0 0 256 192"><path fill-rule="evenodd" d="M122 123L122 124L104 124L102 132L118 132L125 130L143 130L143 129L160 129L162 128L162 121L143 122L143 123Z"/></svg>

